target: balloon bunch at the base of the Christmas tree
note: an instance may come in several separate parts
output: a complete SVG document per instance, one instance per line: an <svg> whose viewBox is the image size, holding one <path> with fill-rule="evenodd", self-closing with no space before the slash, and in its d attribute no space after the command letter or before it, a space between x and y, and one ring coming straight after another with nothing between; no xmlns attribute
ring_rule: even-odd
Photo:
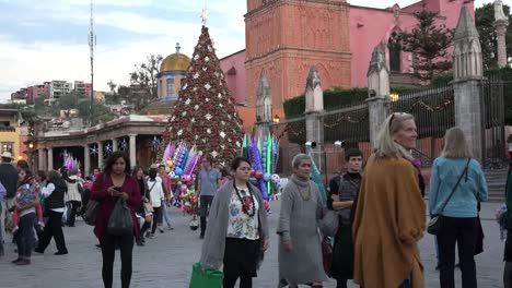
<svg viewBox="0 0 512 288"><path fill-rule="evenodd" d="M186 208L185 195L193 195L196 191L196 176L194 173L197 164L200 163L202 152L191 148L185 143L170 143L162 157L165 171L171 178L171 188L174 193L175 205ZM196 200L197 202L197 200ZM188 203L193 203L188 201ZM188 205L188 204L187 204Z"/></svg>

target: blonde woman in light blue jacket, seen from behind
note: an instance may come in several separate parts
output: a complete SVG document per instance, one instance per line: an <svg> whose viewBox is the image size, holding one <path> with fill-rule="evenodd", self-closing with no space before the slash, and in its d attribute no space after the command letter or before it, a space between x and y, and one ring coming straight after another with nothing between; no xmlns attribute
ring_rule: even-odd
<svg viewBox="0 0 512 288"><path fill-rule="evenodd" d="M478 202L487 201L487 183L480 165L473 155L464 132L452 128L444 136L441 157L432 165L430 178L430 215L440 215L438 237L441 288L454 287L455 243L464 288L476 288L475 245L478 226Z"/></svg>

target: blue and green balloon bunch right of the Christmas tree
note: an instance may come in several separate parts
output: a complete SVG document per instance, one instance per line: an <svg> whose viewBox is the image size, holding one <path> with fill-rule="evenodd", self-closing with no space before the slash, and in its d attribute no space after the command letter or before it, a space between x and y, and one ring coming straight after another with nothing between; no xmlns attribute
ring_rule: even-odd
<svg viewBox="0 0 512 288"><path fill-rule="evenodd" d="M279 142L270 133L263 139L245 134L242 155L251 160L251 180L257 183L265 201L268 201L280 181L276 172ZM266 205L267 206L267 205Z"/></svg>

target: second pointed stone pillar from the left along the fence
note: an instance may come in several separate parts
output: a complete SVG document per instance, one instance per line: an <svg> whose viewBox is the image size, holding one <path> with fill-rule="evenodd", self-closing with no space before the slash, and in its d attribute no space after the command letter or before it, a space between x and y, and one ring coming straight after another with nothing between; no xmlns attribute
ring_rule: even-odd
<svg viewBox="0 0 512 288"><path fill-rule="evenodd" d="M306 141L315 142L316 147L311 147L312 157L321 172L325 173L324 151L324 91L322 89L321 77L316 68L310 68L305 88L305 118L306 118Z"/></svg>

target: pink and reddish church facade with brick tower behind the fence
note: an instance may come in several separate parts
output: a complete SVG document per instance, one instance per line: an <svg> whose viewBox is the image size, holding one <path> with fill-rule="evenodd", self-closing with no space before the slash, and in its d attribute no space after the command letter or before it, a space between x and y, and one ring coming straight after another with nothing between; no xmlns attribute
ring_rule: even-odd
<svg viewBox="0 0 512 288"><path fill-rule="evenodd" d="M410 77L414 55L388 46L389 38L410 31L417 23L414 13L422 9L438 12L439 25L455 28L463 5L474 16L472 0L422 0L387 9L346 0L247 0L245 50L221 59L221 65L231 76L232 96L247 108L258 106L258 85L265 79L271 115L282 118L282 103L304 93L311 67L316 67L324 89L365 87L372 50L379 45L386 51L392 85L416 84Z"/></svg>

